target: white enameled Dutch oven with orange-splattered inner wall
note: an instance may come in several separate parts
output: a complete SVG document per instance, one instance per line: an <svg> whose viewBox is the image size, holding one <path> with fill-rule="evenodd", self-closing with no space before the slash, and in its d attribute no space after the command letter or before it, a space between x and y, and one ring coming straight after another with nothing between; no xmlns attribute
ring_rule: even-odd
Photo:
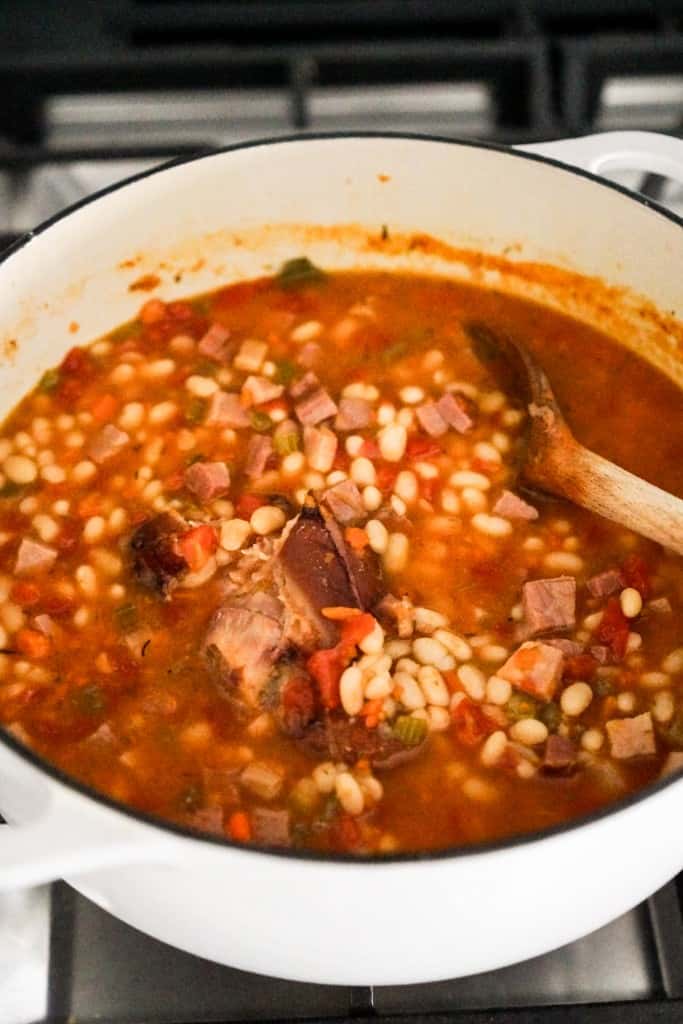
<svg viewBox="0 0 683 1024"><path fill-rule="evenodd" d="M609 329L681 382L682 225L595 177L609 167L683 181L683 142L615 134L513 152L311 137L133 179L40 228L0 265L0 413L75 341L133 315L141 293L129 285L141 275L158 274L159 294L180 297L303 253L328 267L408 267L531 295ZM431 981L542 953L638 903L683 868L682 805L683 778L670 777L530 838L326 859L154 822L2 735L0 887L66 877L142 931L249 971Z"/></svg>

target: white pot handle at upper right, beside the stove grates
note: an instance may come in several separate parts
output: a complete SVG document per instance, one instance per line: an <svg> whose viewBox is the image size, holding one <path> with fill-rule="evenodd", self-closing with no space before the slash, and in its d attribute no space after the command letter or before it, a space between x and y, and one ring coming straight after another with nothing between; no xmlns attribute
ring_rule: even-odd
<svg viewBox="0 0 683 1024"><path fill-rule="evenodd" d="M683 184L683 139L650 131L611 131L559 142L520 145L525 153L552 157L592 174L645 171Z"/></svg>

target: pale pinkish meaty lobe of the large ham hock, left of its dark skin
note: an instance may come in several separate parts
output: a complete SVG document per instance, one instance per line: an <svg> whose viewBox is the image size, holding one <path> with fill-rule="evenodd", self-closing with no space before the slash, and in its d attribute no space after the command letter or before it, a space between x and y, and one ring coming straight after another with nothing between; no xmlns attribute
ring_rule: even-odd
<svg viewBox="0 0 683 1024"><path fill-rule="evenodd" d="M268 609L270 610L270 609ZM215 612L204 640L205 655L228 696L239 691L256 707L285 643L282 618L252 600L225 604Z"/></svg>

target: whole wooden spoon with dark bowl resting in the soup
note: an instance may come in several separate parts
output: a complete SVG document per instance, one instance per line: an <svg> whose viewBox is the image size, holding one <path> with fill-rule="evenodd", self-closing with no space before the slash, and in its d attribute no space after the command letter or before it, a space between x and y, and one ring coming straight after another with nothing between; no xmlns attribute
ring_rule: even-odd
<svg viewBox="0 0 683 1024"><path fill-rule="evenodd" d="M520 471L524 482L683 555L683 501L580 444L548 378L521 345L479 324L470 325L468 334L475 355L508 392L526 401L530 420Z"/></svg>

